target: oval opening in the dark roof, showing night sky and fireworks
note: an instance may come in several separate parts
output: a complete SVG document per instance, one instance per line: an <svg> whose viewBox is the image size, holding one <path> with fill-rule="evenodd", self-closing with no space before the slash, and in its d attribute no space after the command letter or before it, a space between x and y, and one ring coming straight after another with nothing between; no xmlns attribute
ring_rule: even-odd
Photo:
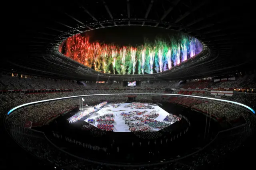
<svg viewBox="0 0 256 170"><path fill-rule="evenodd" d="M153 74L179 66L202 51L200 41L155 27L109 27L69 37L59 46L66 57L110 74Z"/></svg>

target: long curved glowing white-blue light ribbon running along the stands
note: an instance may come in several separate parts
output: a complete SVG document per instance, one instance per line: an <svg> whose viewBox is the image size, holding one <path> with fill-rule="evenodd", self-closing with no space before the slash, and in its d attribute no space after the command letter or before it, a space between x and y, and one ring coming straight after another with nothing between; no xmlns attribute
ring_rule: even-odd
<svg viewBox="0 0 256 170"><path fill-rule="evenodd" d="M87 97L87 96L111 96L111 95L159 95L159 96L184 96L184 97L202 98L202 99L216 100L216 101L220 101L220 102L228 102L228 103L232 103L232 104L237 104L237 105L246 107L247 109L252 111L252 113L255 114L255 111L251 107L246 106L245 104L241 104L241 103L238 103L238 102L233 102L233 101L230 101L230 100L222 100L222 99L208 98L208 97L202 97L202 96L191 96L191 95L185 95L185 94L121 93L121 94L88 94L88 95L68 96L68 97L63 97L63 98L40 100L40 101L30 102L30 103L22 104L20 106L16 106L16 107L12 108L10 111L8 111L7 115L12 113L16 109L19 109L20 107L29 106L29 105L32 105L32 104L38 104L38 103L41 103L41 102L50 102L50 101L54 101L54 100L63 100L63 99L79 98L79 97Z"/></svg>

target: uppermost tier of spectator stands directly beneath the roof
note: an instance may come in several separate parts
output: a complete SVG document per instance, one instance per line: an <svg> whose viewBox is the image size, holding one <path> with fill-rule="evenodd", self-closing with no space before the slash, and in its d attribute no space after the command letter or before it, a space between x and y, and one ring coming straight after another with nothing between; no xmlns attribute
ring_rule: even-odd
<svg viewBox="0 0 256 170"><path fill-rule="evenodd" d="M146 81L134 89L195 89L195 88L256 88L256 76L245 75L226 81L195 80L191 82L180 81ZM0 77L0 90L20 89L124 89L122 82L76 82L70 80L57 80L52 78L22 76L21 74L8 74Z"/></svg>

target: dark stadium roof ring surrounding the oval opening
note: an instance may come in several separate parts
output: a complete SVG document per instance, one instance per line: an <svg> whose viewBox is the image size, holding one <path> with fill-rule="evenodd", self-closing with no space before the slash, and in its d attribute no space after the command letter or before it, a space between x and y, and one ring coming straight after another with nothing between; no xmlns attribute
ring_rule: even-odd
<svg viewBox="0 0 256 170"><path fill-rule="evenodd" d="M79 0L18 6L18 30L3 57L2 70L76 80L192 79L238 72L251 67L253 13L246 1L220 0ZM11 23L13 20L10 21ZM58 50L64 39L93 29L143 25L182 31L204 44L197 60L156 75L99 74ZM16 29L16 28L14 28ZM17 32L18 31L18 32ZM10 41L10 39L9 39ZM168 74L167 74L168 73Z"/></svg>

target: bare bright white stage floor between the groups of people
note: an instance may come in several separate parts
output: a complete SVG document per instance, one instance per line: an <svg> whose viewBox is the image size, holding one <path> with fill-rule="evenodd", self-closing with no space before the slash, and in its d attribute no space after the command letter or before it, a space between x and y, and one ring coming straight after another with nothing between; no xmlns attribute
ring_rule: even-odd
<svg viewBox="0 0 256 170"><path fill-rule="evenodd" d="M108 114L108 113L113 113L114 114L113 119L115 121L115 123L113 123L114 132L130 132L129 126L124 123L124 120L122 119L123 117L120 115L123 112L128 113L130 111L135 111L135 110L139 110L139 111L147 110L148 112L144 113L144 115L146 115L146 114L149 114L151 111L155 110L156 113L159 113L159 116L154 119L154 120L157 120L157 121L164 121L164 118L169 114L168 112L166 112L164 109L162 109L159 106L153 106L154 109L135 109L135 108L131 109L130 107L128 107L128 108L124 107L124 106L129 105L129 104L131 104L131 103L123 103L123 104L120 104L120 106L118 106L117 108L114 108L110 104L106 104L109 107L103 107L102 109L97 111L96 113L98 113L99 115L91 115L89 118L85 119L84 121L88 122L88 119L95 119L98 116L102 116L102 115L105 115L105 114ZM146 104L146 105L148 105L148 104ZM136 115L136 116L142 117L143 115ZM137 123L138 121L133 121L133 122ZM167 121L164 121L164 122L170 123L170 124L174 123L174 122L167 122ZM90 123L90 124L97 127L98 122L95 121L94 124L92 124L92 123ZM152 130L159 131L160 129L152 128Z"/></svg>

